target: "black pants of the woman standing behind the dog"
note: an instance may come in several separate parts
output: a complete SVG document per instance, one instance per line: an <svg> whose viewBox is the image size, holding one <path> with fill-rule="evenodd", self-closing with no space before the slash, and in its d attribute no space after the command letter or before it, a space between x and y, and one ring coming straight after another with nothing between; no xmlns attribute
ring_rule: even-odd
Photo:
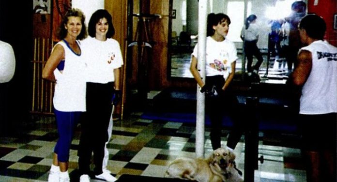
<svg viewBox="0 0 337 182"><path fill-rule="evenodd" d="M226 91L222 90L225 83L223 76L207 76L206 83L215 85L218 93L215 97L206 96L205 101L205 111L211 121L210 136L212 148L215 150L221 147L222 119L226 114L230 117L231 121L233 121L233 127L227 140L227 146L234 149L244 133L243 124L241 123L243 120L240 117L243 113L239 110L238 99L230 87L227 88Z"/></svg>

